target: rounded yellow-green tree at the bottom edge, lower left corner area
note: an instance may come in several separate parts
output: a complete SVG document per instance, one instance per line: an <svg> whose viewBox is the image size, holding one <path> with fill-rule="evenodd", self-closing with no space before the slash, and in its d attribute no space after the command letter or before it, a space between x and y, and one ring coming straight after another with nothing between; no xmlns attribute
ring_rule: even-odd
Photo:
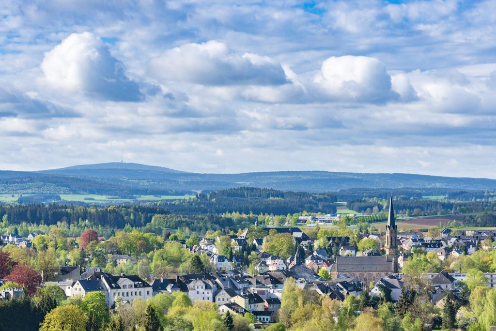
<svg viewBox="0 0 496 331"><path fill-rule="evenodd" d="M85 331L86 320L79 307L60 306L45 316L40 331Z"/></svg>

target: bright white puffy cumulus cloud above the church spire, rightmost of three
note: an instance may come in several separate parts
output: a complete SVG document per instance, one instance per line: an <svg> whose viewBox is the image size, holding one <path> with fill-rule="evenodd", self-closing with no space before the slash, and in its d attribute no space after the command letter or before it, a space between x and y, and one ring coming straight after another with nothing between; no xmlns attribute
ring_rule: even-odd
<svg viewBox="0 0 496 331"><path fill-rule="evenodd" d="M385 65L373 57L331 56L313 81L338 100L381 103L399 98Z"/></svg>

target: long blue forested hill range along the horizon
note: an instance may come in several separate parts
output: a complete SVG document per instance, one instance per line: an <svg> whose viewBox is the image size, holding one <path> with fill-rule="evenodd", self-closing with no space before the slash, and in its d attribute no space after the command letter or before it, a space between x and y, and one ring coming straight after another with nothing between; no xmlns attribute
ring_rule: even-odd
<svg viewBox="0 0 496 331"><path fill-rule="evenodd" d="M184 195L242 186L304 192L406 187L494 190L496 180L329 171L192 173L131 163L77 165L34 172L0 171L0 194Z"/></svg>

